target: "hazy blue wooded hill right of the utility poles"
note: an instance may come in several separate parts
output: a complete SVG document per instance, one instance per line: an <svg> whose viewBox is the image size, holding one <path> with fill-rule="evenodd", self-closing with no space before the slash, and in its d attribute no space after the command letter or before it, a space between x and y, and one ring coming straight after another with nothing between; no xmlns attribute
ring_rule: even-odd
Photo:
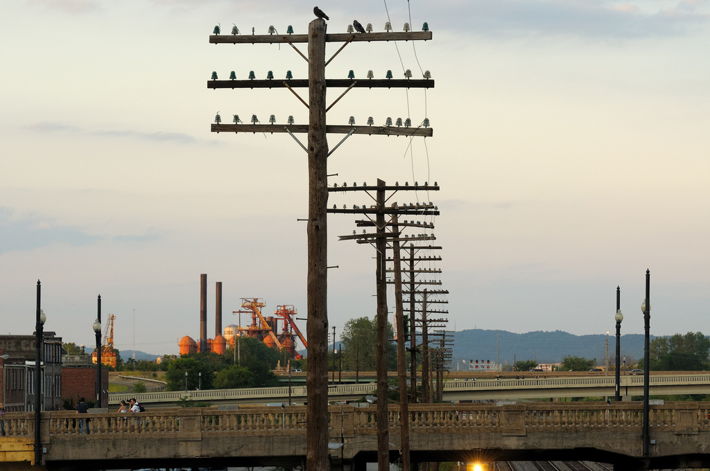
<svg viewBox="0 0 710 471"><path fill-rule="evenodd" d="M498 340L496 340L498 336ZM653 338L651 336L650 338ZM610 333L609 358L616 352L616 336ZM575 336L571 333L535 331L513 333L508 331L484 331L469 329L454 334L453 362L461 360L496 360L496 345L502 365L515 360L537 359L540 363L556 363L567 355L596 358L597 365L603 365L606 355L606 335L594 334ZM643 358L643 334L634 333L621 336L621 355L634 362ZM463 365L461 365L463 366Z"/></svg>

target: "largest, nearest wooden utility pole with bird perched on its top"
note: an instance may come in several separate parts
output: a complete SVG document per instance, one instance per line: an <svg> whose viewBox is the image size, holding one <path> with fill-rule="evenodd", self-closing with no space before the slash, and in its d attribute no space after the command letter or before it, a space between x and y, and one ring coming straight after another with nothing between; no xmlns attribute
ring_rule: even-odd
<svg viewBox="0 0 710 471"><path fill-rule="evenodd" d="M266 28L265 28L266 29ZM428 30L428 27L427 27ZM219 29L217 29L219 31ZM327 156L329 155L327 133L368 134L368 135L406 135L431 136L432 129L428 127L398 127L398 126L329 126L326 112L333 106L326 106L328 87L343 87L348 92L357 87L387 87L387 88L430 88L434 87L432 79L326 79L325 67L347 45L354 42L397 41L397 40L429 40L430 31L405 31L403 33L340 33L327 34L324 20L316 19L308 26L308 34L285 35L210 35L209 43L213 44L273 44L288 43L298 54L308 62L308 78L285 80L275 79L229 79L219 80L216 73L207 82L207 88L239 89L239 88L277 88L285 87L305 104L309 109L308 124L244 124L239 123L236 116L234 124L222 124L221 118L216 118L212 132L234 133L307 133L307 147L300 144L308 153L308 270L307 270L307 338L308 338L308 371L307 387L307 458L308 471L327 471L328 461L328 313L327 313ZM326 43L345 43L335 54L325 60ZM308 57L300 52L295 44L308 44ZM288 74L290 75L290 74ZM410 74L411 75L411 74ZM427 74L428 75L428 74ZM308 88L309 97L306 103L296 88ZM342 95L341 95L342 96ZM219 115L218 115L219 116ZM428 120L425 121L428 125ZM347 137L347 136L346 136ZM336 146L337 147L337 146Z"/></svg>

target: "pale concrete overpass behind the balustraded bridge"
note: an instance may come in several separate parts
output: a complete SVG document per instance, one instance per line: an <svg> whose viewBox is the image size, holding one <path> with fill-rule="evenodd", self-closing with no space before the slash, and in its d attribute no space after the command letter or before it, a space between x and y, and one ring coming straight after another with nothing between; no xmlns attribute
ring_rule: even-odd
<svg viewBox="0 0 710 471"><path fill-rule="evenodd" d="M592 377L501 377L476 380L449 380L444 383L444 401L469 401L477 399L550 399L562 397L613 397L613 376ZM357 401L373 394L375 383L339 384L329 387L331 401ZM621 394L643 395L643 376L621 379ZM710 394L710 374L652 375L650 394ZM251 389L212 389L206 391L148 392L133 394L147 407L177 406L180 399L220 404L302 404L306 400L305 386L261 387ZM109 394L109 404L118 405L126 399L125 393Z"/></svg>

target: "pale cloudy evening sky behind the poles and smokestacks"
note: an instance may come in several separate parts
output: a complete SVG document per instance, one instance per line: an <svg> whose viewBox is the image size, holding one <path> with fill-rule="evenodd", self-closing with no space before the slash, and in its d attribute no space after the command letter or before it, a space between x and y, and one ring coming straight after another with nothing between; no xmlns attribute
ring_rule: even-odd
<svg viewBox="0 0 710 471"><path fill-rule="evenodd" d="M306 316L307 155L288 134L210 133L219 112L307 122L284 89L207 89L306 62L288 45L211 45L268 27L305 33L312 4L271 0L0 3L0 331L92 345L97 296L121 350L178 352L200 334L200 274ZM710 1L320 0L329 33L405 22L431 41L354 43L328 66L366 77L430 70L435 87L353 89L329 111L364 124L429 118L431 138L354 135L331 183L437 182L449 328L515 333L710 333ZM331 43L327 56L340 43ZM306 52L306 45L299 45ZM328 92L328 102L341 90ZM307 91L300 90L306 95ZM247 119L244 119L247 121ZM300 135L305 141L306 136ZM342 135L330 135L333 148ZM330 204L369 204L332 194ZM328 312L337 335L376 310L374 249L329 215ZM392 290L388 306L393 311ZM244 320L246 322L246 320ZM301 321L305 329L305 321Z"/></svg>

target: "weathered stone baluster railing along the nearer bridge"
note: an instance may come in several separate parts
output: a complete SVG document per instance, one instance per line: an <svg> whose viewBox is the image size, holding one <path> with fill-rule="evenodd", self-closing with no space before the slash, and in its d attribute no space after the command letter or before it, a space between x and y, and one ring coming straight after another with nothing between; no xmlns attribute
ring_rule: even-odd
<svg viewBox="0 0 710 471"><path fill-rule="evenodd" d="M639 429L643 426L642 404L436 404L410 405L412 433L491 433ZM271 436L305 434L305 406L253 406L222 411L214 407L156 409L141 413L82 414L75 411L43 412L43 436L61 438L80 434L80 420L88 421L87 439L101 436L142 434L151 436L209 436L220 433ZM399 426L399 406L388 411L389 427ZM710 402L674 402L650 406L650 428L657 431L710 431ZM32 413L11 412L4 416L6 435L30 438L34 433ZM330 406L329 426L340 435L374 434L374 407Z"/></svg>

